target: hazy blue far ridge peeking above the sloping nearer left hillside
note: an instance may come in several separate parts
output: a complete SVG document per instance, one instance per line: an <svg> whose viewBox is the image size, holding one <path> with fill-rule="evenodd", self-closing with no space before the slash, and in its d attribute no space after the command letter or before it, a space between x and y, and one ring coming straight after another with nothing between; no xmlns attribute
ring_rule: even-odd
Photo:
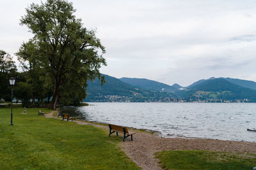
<svg viewBox="0 0 256 170"><path fill-rule="evenodd" d="M164 83L160 83L158 81L148 80L145 78L120 78L119 80L123 81L124 83L127 83L129 85L132 85L134 87L141 87L143 89L152 89L152 90L158 90L163 92L175 92L179 89L176 87L172 87L170 85L166 85Z"/></svg>

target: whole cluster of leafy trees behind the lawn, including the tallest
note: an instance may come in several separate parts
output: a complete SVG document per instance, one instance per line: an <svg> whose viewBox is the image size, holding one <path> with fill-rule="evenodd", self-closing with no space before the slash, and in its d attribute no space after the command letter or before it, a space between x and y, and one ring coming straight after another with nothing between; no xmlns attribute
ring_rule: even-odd
<svg viewBox="0 0 256 170"><path fill-rule="evenodd" d="M99 78L104 83L99 68L106 66L102 57L105 48L95 31L83 27L75 11L72 3L63 0L32 3L26 8L20 24L27 25L34 36L22 43L16 53L22 64L21 73L10 55L1 51L4 71L0 76L3 81L10 76L17 79L13 95L24 105L29 101L42 104L50 100L52 109L58 103L78 105L86 97L88 80ZM6 92L0 98L10 98L7 86L8 83L1 82L0 88Z"/></svg>

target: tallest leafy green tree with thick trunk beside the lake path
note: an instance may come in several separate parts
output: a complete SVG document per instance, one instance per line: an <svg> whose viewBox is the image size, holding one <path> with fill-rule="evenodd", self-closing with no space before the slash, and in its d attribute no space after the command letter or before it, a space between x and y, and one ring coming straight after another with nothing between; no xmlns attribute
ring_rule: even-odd
<svg viewBox="0 0 256 170"><path fill-rule="evenodd" d="M104 82L99 68L102 64L106 66L102 57L105 48L95 31L83 27L81 19L74 15L75 11L72 3L67 1L47 0L46 3L32 3L20 20L34 37L23 43L18 55L30 51L30 55L19 55L23 63L35 62L45 76L51 78L52 109L56 108L61 96L75 96L81 100L84 96L74 92L84 92L87 80L98 77ZM69 87L76 89L68 90Z"/></svg>

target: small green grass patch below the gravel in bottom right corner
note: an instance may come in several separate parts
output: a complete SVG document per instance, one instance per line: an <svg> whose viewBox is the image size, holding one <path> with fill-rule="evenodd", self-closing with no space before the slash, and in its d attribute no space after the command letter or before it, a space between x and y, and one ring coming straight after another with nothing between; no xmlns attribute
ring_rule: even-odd
<svg viewBox="0 0 256 170"><path fill-rule="evenodd" d="M175 150L156 153L164 169L250 169L256 155L250 153Z"/></svg>

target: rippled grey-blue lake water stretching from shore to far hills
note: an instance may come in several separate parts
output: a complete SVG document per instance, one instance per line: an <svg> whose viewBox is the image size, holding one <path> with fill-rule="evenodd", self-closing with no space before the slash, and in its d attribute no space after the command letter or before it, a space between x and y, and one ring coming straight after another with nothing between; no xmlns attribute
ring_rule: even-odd
<svg viewBox="0 0 256 170"><path fill-rule="evenodd" d="M72 110L78 118L160 131L163 137L256 142L256 132L246 130L256 129L256 103L89 104Z"/></svg>

